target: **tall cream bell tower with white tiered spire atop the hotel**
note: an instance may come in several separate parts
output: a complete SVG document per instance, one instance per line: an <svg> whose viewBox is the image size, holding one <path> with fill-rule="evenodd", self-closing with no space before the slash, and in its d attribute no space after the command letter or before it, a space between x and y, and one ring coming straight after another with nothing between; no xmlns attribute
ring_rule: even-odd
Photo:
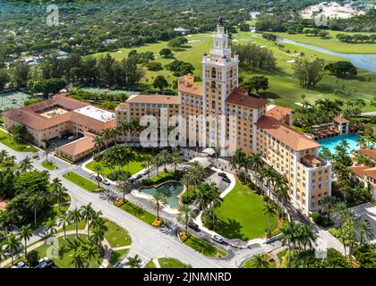
<svg viewBox="0 0 376 286"><path fill-rule="evenodd" d="M226 135L226 98L239 85L238 55L231 55L228 34L222 17L218 18L217 31L213 36L213 46L209 55L202 59L202 114L209 117L206 126L202 126L203 138L207 147L215 147L220 156L228 156L225 150ZM214 126L216 126L214 128ZM223 136L221 136L223 130Z"/></svg>

